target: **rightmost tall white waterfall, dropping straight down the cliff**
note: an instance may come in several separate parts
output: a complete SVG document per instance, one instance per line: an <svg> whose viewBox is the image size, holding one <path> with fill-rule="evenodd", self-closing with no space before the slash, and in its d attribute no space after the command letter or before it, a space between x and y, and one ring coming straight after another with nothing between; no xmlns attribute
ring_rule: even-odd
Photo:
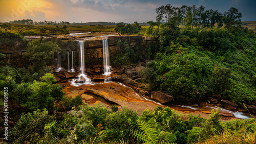
<svg viewBox="0 0 256 144"><path fill-rule="evenodd" d="M104 64L104 74L103 75L106 76L104 81L111 82L111 77L108 78L108 76L111 75L108 39L102 40L102 44L103 44L103 64Z"/></svg>

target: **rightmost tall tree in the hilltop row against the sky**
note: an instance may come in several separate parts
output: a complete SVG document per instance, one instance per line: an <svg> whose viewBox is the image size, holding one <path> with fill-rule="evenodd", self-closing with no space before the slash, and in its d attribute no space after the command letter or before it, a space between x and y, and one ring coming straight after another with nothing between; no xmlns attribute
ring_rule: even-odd
<svg viewBox="0 0 256 144"><path fill-rule="evenodd" d="M228 12L224 13L226 15L226 18L224 20L224 24L226 28L230 28L231 26L238 26L241 25L241 17L242 13L238 11L236 8L230 8Z"/></svg>

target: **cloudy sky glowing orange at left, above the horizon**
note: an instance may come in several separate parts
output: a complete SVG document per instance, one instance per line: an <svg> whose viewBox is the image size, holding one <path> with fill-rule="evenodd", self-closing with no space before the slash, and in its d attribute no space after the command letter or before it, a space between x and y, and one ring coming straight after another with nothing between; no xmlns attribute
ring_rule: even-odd
<svg viewBox="0 0 256 144"><path fill-rule="evenodd" d="M156 20L156 8L201 6L227 12L231 7L242 13L242 21L256 21L255 0L0 0L0 20L69 22L146 22Z"/></svg>

